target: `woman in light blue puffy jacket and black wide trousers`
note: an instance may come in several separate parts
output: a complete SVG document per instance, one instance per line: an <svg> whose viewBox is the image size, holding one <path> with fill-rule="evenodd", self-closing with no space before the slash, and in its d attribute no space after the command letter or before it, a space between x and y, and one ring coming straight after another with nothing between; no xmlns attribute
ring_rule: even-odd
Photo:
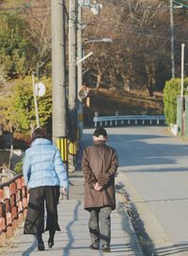
<svg viewBox="0 0 188 256"><path fill-rule="evenodd" d="M49 231L48 246L53 248L55 231L60 231L57 217L59 190L66 194L69 181L60 152L48 139L45 129L37 128L34 131L31 147L25 151L23 172L24 182L29 189L24 233L35 234L38 249L44 250L42 233ZM45 230L44 202L47 213Z"/></svg>

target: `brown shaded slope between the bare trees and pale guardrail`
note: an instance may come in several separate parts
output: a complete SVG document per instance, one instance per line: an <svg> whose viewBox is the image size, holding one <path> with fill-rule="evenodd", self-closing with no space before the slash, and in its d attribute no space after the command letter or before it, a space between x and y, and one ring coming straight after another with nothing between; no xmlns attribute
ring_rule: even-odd
<svg viewBox="0 0 188 256"><path fill-rule="evenodd" d="M90 105L84 106L84 124L93 125L95 112L99 116L118 115L164 115L163 94L155 92L149 97L148 91L113 92L99 89L98 94L91 93Z"/></svg>

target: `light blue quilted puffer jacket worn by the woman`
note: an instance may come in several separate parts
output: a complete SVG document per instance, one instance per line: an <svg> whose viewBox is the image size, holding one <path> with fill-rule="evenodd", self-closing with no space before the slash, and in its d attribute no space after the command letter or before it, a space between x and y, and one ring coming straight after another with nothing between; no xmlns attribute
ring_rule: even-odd
<svg viewBox="0 0 188 256"><path fill-rule="evenodd" d="M66 168L60 152L46 138L36 138L24 156L24 182L29 188L44 185L68 187Z"/></svg>

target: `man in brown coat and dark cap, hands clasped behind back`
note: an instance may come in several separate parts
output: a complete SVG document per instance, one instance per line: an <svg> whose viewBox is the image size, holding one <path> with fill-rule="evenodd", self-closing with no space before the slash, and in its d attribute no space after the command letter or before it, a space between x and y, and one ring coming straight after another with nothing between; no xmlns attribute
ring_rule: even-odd
<svg viewBox="0 0 188 256"><path fill-rule="evenodd" d="M99 249L101 241L102 251L110 252L110 215L116 208L118 156L113 148L106 145L106 140L106 130L97 128L93 134L93 145L86 147L83 152L82 170L85 178L85 209L90 213L90 248Z"/></svg>

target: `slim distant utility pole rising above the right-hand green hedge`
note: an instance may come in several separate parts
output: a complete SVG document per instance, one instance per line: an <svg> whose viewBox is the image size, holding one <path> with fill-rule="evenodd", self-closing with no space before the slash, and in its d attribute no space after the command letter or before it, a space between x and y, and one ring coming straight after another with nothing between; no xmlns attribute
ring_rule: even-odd
<svg viewBox="0 0 188 256"><path fill-rule="evenodd" d="M174 17L173 17L173 0L170 0L170 31L171 31L171 69L172 78L175 77L175 60L174 60Z"/></svg>

